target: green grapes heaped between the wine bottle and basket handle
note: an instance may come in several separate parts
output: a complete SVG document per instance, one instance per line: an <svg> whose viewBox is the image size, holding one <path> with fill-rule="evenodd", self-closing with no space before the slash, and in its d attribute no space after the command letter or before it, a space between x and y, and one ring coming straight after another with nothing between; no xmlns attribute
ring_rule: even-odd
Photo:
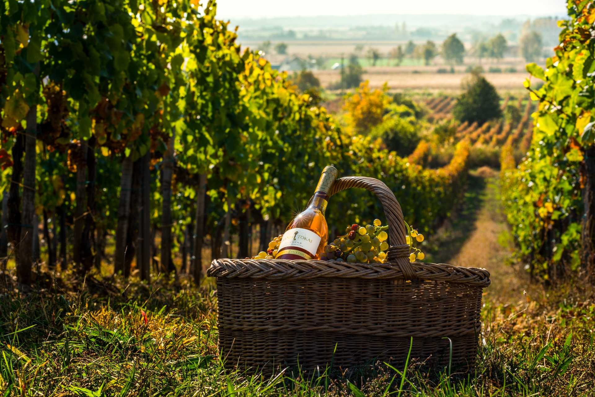
<svg viewBox="0 0 595 397"><path fill-rule="evenodd" d="M324 247L321 260L347 261L350 263L386 263L386 251L389 249L386 229L380 219L374 219L374 225L359 226L353 223L347 226L345 234L338 236Z"/></svg>

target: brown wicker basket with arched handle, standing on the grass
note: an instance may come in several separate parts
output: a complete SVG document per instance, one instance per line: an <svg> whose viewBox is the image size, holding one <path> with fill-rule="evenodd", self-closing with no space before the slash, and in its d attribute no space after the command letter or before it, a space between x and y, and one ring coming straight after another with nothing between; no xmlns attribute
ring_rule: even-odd
<svg viewBox="0 0 595 397"><path fill-rule="evenodd" d="M217 259L219 349L227 368L324 370L411 358L453 370L475 364L481 295L490 273L475 267L410 263L392 191L374 178L337 179L331 195L365 188L389 222L387 263Z"/></svg>

